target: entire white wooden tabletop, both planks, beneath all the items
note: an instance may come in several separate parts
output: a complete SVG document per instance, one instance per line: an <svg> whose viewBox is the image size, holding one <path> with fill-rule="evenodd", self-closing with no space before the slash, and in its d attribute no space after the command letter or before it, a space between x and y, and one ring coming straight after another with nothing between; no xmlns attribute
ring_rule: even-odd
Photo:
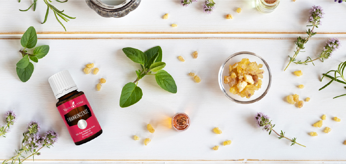
<svg viewBox="0 0 346 164"><path fill-rule="evenodd" d="M117 19L100 17L85 1L53 2L66 14L77 17L64 23L65 32L53 13L49 13L45 24L40 24L46 10L43 2L38 3L35 12L18 10L27 9L30 3L1 1L0 115L14 110L18 121L6 138L0 137L0 160L15 155L27 123L37 120L41 133L54 129L60 136L53 148L43 148L42 155L28 163L346 163L345 97L332 99L345 94L344 85L333 82L318 91L329 81L326 78L320 82L321 74L337 69L346 60L346 45L324 63L291 64L283 72L287 56L293 55L295 37L304 36L309 25L306 19L312 5L322 6L326 13L322 26L316 30L321 34L311 38L306 52L297 58L317 57L330 37L340 37L342 44L346 43L346 4L281 1L274 13L266 15L254 8L253 1L216 1L215 12L207 15L201 12L202 1L187 8L179 1L142 1L135 11ZM243 9L240 14L235 12L238 7ZM162 19L165 13L170 13L168 20ZM226 20L228 13L234 19ZM173 23L178 27L170 27ZM33 75L23 83L15 65L21 58L19 38L29 26L34 26L41 38L37 46L49 45L50 50L34 63ZM140 68L121 49L146 51L154 46L162 47L162 61L177 84L177 93L164 91L153 77L145 76L138 84L143 90L142 100L120 108L122 86L134 81L135 70ZM197 59L192 57L194 51L199 53ZM272 71L268 94L252 104L230 101L218 84L222 62L240 51L260 55ZM177 59L180 55L185 62ZM82 70L88 63L94 63L100 72L84 74ZM51 75L65 69L70 71L79 91L85 93L103 129L102 135L80 146L73 144L48 83ZM297 70L302 70L303 76L292 73ZM195 83L188 76L190 72L202 81ZM107 82L97 91L100 78ZM305 88L299 89L299 84ZM289 94L311 100L299 109L286 102ZM274 129L285 131L287 137L297 137L297 142L307 147L290 146L288 140L277 140L277 136L263 132L254 121L260 111L271 117L276 124ZM177 112L189 115L191 126L187 131L177 132L171 127L170 119ZM313 127L323 114L327 115L324 126ZM4 121L0 118L0 123ZM147 124L153 125L154 134L146 130ZM326 126L332 129L329 134L322 132ZM215 127L223 133L213 133ZM310 136L311 131L318 136ZM140 140L135 141L134 135ZM152 139L147 146L145 138ZM226 140L232 144L222 146ZM218 151L212 149L216 145L220 145Z"/></svg>

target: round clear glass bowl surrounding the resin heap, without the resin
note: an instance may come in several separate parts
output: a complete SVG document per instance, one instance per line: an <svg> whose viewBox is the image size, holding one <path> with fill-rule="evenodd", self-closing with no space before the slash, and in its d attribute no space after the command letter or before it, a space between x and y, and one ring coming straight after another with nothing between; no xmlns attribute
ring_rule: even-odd
<svg viewBox="0 0 346 164"><path fill-rule="evenodd" d="M263 64L261 69L264 70L263 79L262 79L262 87L255 91L255 94L252 95L249 99L246 97L240 97L238 94L232 94L229 92L229 85L224 83L224 76L229 76L229 65L233 65L236 62L242 61L243 58L248 58L250 62L256 62L257 64ZM265 62L265 60L252 52L238 52L231 56L229 56L224 63L222 63L219 71L219 85L222 92L225 93L226 97L230 100L241 103L241 104L249 104L254 103L256 101L261 100L268 92L270 88L270 84L272 82L272 73L270 72L270 68Z"/></svg>

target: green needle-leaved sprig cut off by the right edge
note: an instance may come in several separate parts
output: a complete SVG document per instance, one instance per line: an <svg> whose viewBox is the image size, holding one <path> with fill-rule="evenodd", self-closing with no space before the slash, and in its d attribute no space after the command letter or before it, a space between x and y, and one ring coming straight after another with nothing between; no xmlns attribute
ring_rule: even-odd
<svg viewBox="0 0 346 164"><path fill-rule="evenodd" d="M346 84L346 79L345 79L345 77L344 77L344 70L345 70L345 67L346 67L346 61L339 64L338 70L331 70L331 71L328 71L328 72L325 73L325 74L322 74L323 76L322 76L322 78L321 78L321 81L322 81L322 79L323 79L325 76L326 76L327 78L330 78L331 80L330 80L325 86L323 86L322 88L320 88L319 91L322 90L322 89L324 89L324 88L326 88L326 87L327 87L329 84L331 84L331 82L333 82L333 81L337 81L337 82L339 82L339 83ZM328 73L330 73L330 72L334 72L334 77L328 75ZM339 74L339 76L337 76L337 74ZM339 80L339 79L337 79L337 78L341 78L341 79L344 80L344 81L341 81L341 80ZM346 86L344 86L344 88L346 89ZM334 97L333 99L338 98L338 97L342 97L342 96L345 96L345 95L346 95L346 94L339 95L339 96L337 96L337 97Z"/></svg>

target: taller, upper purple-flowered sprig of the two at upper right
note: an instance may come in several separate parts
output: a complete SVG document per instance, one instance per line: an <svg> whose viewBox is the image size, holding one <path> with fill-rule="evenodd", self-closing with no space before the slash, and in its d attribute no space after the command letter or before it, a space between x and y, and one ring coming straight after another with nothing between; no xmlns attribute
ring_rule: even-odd
<svg viewBox="0 0 346 164"><path fill-rule="evenodd" d="M322 11L323 11L323 9L320 6L312 6L312 9L310 9L310 16L309 16L308 22L312 23L312 25L309 25L309 26L313 26L313 27L312 27L312 29L309 28L308 30L305 31L305 33L308 34L307 38L298 37L297 38L297 42L294 41L294 43L297 45L297 47L295 48L296 51L294 51L294 55L292 57L288 56L290 58L290 62L286 66L285 70L291 64L291 62L295 61L295 57L297 57L299 52L304 52L304 51L301 51L301 50L305 48L304 44L308 42L309 38L311 36L317 34L316 32L315 33L313 32L313 29L315 27L318 28L318 25L321 25L320 19L323 18L323 15L325 14ZM311 60L311 58L309 57L305 62L307 62L309 59ZM300 64L300 62L301 61L294 62L294 63Z"/></svg>

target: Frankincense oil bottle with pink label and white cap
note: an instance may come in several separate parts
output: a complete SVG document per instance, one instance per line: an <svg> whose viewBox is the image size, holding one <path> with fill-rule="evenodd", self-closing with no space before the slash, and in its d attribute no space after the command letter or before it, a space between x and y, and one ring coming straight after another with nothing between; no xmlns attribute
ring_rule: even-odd
<svg viewBox="0 0 346 164"><path fill-rule="evenodd" d="M69 71L64 70L49 79L55 98L56 108L65 122L74 144L81 145L102 134L102 129L84 92L77 91L77 85Z"/></svg>

